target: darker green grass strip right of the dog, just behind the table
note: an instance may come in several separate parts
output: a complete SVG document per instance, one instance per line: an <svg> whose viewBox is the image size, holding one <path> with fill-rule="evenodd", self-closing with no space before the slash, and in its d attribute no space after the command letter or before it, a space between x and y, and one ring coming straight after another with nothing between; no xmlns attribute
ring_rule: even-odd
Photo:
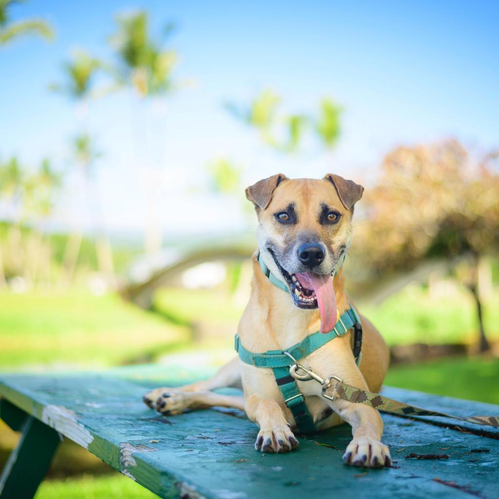
<svg viewBox="0 0 499 499"><path fill-rule="evenodd" d="M499 404L499 359L445 358L393 366L385 385Z"/></svg>

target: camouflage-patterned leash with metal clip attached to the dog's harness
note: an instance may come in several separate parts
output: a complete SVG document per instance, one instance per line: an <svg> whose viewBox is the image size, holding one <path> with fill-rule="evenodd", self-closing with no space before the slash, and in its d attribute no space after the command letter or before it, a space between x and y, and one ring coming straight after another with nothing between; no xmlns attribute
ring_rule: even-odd
<svg viewBox="0 0 499 499"><path fill-rule="evenodd" d="M304 371L305 374L299 374L297 371ZM459 417L451 416L438 411L429 411L421 409L404 402L384 397L379 393L370 392L368 390L361 390L354 386L347 385L338 376L330 375L326 379L322 379L315 374L312 369L306 368L295 362L289 368L289 374L299 381L315 380L322 385L322 396L329 400L342 399L356 404L364 404L381 412L388 414L400 414L403 416L441 416L444 418L452 418L468 423L475 423L477 425L494 426L499 428L499 416L468 416Z"/></svg>

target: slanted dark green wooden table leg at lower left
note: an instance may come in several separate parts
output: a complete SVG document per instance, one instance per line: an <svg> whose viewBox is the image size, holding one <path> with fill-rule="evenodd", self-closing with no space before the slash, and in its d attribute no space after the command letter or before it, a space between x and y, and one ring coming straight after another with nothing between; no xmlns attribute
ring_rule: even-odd
<svg viewBox="0 0 499 499"><path fill-rule="evenodd" d="M0 477L0 499L31 499L59 443L55 430L32 416L25 418L21 438Z"/></svg>

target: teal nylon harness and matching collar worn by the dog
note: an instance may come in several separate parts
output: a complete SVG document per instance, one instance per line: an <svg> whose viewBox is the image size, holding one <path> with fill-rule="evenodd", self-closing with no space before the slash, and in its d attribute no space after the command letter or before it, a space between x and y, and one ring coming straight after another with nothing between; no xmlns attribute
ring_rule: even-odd
<svg viewBox="0 0 499 499"><path fill-rule="evenodd" d="M258 256L258 261L260 262L262 272L268 277L268 280L283 291L289 292L286 284L270 272L261 259L261 256ZM336 269L334 275L337 273L338 269ZM293 414L298 429L301 433L313 433L317 430L316 423L313 421L307 405L305 404L305 397L299 391L295 379L289 374L289 367L296 364L296 361L306 357L315 350L318 350L326 343L329 343L329 341L334 338L343 336L351 328L354 328L353 355L356 358L356 363L358 365L361 358L362 327L360 325L360 317L351 305L348 310L341 314L331 331L328 333L317 331L309 334L299 343L296 343L285 350L269 350L265 353L250 352L242 345L237 334L235 338L235 348L239 358L246 364L250 364L254 367L272 369L277 386L284 398L284 403ZM318 421L317 424L320 422L321 421Z"/></svg>

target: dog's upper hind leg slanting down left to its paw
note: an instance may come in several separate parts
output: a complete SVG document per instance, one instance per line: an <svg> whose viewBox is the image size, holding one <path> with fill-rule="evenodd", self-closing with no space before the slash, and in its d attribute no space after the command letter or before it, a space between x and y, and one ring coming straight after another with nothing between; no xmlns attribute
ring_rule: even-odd
<svg viewBox="0 0 499 499"><path fill-rule="evenodd" d="M216 388L235 387L242 388L241 372L239 368L239 359L236 357L225 366L221 367L215 376L207 380L197 381L189 385L177 387L161 387L151 390L143 397L144 403L151 409L156 408L156 404L164 402L163 394L172 394L175 392L200 392L205 390L215 390Z"/></svg>

